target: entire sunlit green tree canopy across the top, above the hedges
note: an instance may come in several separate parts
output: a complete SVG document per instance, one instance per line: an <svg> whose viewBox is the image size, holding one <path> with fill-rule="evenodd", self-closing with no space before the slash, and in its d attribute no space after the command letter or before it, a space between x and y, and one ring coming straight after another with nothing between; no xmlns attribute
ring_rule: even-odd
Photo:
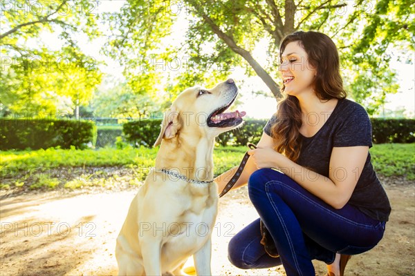
<svg viewBox="0 0 415 276"><path fill-rule="evenodd" d="M1 2L1 113L71 113L93 101L95 114L132 116L237 68L266 83L269 91L260 92L280 97L279 44L295 30L316 30L338 46L351 97L375 114L398 90L391 60L412 62L415 45L410 0L127 0L104 14L98 4ZM45 34L59 45L42 41ZM80 36L107 39L101 52L120 62L125 81L98 87L99 61L82 51Z"/></svg>

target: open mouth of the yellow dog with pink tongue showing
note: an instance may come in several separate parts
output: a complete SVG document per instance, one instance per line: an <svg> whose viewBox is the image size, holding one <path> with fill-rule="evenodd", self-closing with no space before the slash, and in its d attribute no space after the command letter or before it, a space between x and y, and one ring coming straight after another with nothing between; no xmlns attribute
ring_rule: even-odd
<svg viewBox="0 0 415 276"><path fill-rule="evenodd" d="M236 97L235 97L236 98ZM242 117L246 115L245 111L234 111L234 112L225 112L232 103L234 99L227 105L215 110L208 117L208 126L211 128L225 128L228 126L237 126L242 123Z"/></svg>

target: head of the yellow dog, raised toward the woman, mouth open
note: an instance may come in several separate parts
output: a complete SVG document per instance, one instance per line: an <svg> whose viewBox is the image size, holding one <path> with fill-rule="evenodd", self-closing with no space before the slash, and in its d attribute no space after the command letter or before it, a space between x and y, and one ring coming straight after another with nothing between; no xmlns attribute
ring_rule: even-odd
<svg viewBox="0 0 415 276"><path fill-rule="evenodd" d="M190 137L214 138L222 132L237 128L243 123L245 112L225 112L238 95L232 79L219 83L212 89L188 88L178 95L163 116L160 135L154 146L162 139L172 139L179 133Z"/></svg>

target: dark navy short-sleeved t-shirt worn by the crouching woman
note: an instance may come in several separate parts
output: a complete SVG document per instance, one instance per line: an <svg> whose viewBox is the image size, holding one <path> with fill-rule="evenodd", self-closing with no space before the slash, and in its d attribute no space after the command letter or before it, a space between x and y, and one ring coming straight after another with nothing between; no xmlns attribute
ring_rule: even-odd
<svg viewBox="0 0 415 276"><path fill-rule="evenodd" d="M277 121L270 118L264 132L271 135L271 126ZM297 164L329 177L329 164L333 147L372 146L371 121L365 108L349 99L340 99L330 117L313 137L300 134L301 150ZM357 171L356 171L357 173ZM338 172L344 177L344 172ZM380 221L387 221L391 206L385 190L380 184L367 155L362 174L358 179L348 204L356 206L362 213Z"/></svg>

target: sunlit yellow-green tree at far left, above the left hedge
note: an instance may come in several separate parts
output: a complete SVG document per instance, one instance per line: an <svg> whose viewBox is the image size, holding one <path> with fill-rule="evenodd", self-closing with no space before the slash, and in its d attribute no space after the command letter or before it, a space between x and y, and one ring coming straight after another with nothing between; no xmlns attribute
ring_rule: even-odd
<svg viewBox="0 0 415 276"><path fill-rule="evenodd" d="M89 101L101 73L93 57L80 50L76 34L99 35L96 3L81 1L2 1L1 104L16 113L66 112ZM51 50L42 34L58 34ZM29 45L37 46L30 47ZM66 101L66 106L62 106Z"/></svg>

